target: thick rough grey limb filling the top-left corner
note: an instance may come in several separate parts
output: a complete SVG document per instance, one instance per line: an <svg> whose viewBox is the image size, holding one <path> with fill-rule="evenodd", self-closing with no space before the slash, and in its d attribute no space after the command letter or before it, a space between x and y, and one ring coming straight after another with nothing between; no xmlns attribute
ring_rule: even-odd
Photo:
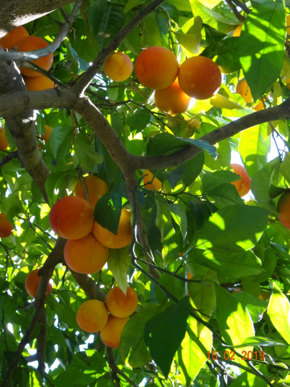
<svg viewBox="0 0 290 387"><path fill-rule="evenodd" d="M71 0L0 0L0 38L17 26L73 3Z"/></svg>

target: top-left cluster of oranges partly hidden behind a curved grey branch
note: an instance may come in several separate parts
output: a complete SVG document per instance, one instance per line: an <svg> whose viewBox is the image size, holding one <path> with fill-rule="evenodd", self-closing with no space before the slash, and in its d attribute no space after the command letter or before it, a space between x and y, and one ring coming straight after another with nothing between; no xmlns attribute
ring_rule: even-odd
<svg viewBox="0 0 290 387"><path fill-rule="evenodd" d="M0 46L4 49L13 49L17 47L20 52L34 51L48 46L46 40L39 36L30 36L23 26L14 28L0 39ZM53 62L53 54L50 53L33 61L42 69L48 71ZM52 89L54 82L36 71L20 67L24 83L28 91L39 91Z"/></svg>

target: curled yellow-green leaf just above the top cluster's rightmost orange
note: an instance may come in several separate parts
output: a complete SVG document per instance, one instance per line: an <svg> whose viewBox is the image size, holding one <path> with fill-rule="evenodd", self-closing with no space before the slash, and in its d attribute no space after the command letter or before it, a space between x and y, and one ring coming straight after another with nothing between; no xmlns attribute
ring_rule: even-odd
<svg viewBox="0 0 290 387"><path fill-rule="evenodd" d="M197 54L200 49L201 29L202 19L200 16L196 16L185 23L182 32L175 32L174 35L179 44L192 54Z"/></svg>

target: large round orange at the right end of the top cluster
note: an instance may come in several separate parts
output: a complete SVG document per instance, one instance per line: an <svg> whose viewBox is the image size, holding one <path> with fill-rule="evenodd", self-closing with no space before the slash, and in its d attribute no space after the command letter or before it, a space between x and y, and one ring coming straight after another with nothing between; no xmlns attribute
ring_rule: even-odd
<svg viewBox="0 0 290 387"><path fill-rule="evenodd" d="M190 97L207 99L218 92L222 73L219 66L206 56L192 56L181 64L178 82Z"/></svg>

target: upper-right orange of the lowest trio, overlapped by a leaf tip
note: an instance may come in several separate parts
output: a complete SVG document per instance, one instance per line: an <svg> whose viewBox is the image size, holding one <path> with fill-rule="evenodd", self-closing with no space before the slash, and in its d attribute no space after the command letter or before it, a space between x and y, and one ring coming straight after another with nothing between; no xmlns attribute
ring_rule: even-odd
<svg viewBox="0 0 290 387"><path fill-rule="evenodd" d="M126 295L114 286L106 295L107 309L115 317L127 317L132 314L138 305L138 296L134 289L127 287Z"/></svg>

